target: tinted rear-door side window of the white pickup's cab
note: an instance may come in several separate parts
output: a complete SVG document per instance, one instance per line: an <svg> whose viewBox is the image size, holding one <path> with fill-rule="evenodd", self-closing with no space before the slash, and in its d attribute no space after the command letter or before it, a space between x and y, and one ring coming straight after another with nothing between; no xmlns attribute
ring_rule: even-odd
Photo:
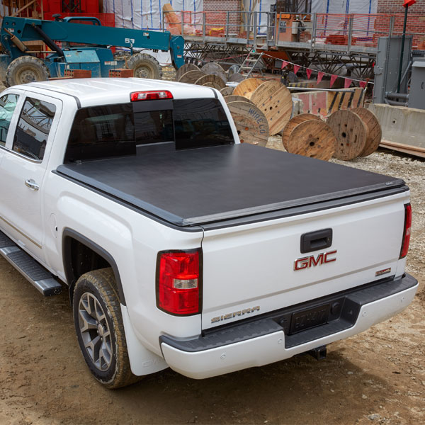
<svg viewBox="0 0 425 425"><path fill-rule="evenodd" d="M49 137L55 105L34 98L26 98L16 127L12 149L30 159L42 160Z"/></svg>

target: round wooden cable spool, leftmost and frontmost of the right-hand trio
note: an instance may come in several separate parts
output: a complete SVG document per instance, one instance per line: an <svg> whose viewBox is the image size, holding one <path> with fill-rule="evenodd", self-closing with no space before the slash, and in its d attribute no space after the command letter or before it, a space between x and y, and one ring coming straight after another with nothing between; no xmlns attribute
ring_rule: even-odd
<svg viewBox="0 0 425 425"><path fill-rule="evenodd" d="M336 137L322 120L307 120L295 126L287 141L291 154L329 161L335 152Z"/></svg>

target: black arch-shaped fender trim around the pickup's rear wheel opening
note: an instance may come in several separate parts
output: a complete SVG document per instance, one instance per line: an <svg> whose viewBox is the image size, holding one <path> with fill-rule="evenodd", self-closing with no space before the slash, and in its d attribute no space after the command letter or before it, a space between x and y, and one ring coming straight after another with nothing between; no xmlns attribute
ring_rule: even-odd
<svg viewBox="0 0 425 425"><path fill-rule="evenodd" d="M71 257L71 239L76 239L78 242L81 242L81 244L88 246L90 249L96 252L98 256L101 256L104 260L111 264L113 274L115 276L115 282L117 283L120 303L122 305L127 305L125 302L120 273L118 271L117 263L115 263L115 260L113 259L113 256L111 256L111 254L109 254L108 251L103 249L101 246L85 237L83 234L65 227L62 233L62 261L64 263L64 272L65 276L67 277L67 283L69 285L69 299L72 300L72 289L74 288L74 282L72 281L72 263L71 261L66 261Z"/></svg>

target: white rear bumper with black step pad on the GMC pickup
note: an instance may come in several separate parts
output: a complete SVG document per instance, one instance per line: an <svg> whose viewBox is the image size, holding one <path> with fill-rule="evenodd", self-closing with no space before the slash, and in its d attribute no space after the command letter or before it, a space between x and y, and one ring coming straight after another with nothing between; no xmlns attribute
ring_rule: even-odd
<svg viewBox="0 0 425 425"><path fill-rule="evenodd" d="M417 280L408 274L380 280L209 331L190 341L161 336L162 353L172 369L196 379L266 365L353 336L389 319L412 302L417 288ZM336 303L339 306L334 311ZM294 333L290 324L293 314L322 305L332 307L327 323Z"/></svg>

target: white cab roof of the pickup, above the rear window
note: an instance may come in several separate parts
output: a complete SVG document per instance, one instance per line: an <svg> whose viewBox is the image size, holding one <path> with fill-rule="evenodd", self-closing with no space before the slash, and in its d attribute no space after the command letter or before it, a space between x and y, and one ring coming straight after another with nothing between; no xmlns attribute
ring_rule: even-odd
<svg viewBox="0 0 425 425"><path fill-rule="evenodd" d="M73 96L78 99L77 103L81 107L126 103L130 101L130 94L133 91L146 90L169 90L177 99L217 97L217 91L210 87L140 78L58 79L23 84L15 88L40 93L41 90L44 93L53 91Z"/></svg>

